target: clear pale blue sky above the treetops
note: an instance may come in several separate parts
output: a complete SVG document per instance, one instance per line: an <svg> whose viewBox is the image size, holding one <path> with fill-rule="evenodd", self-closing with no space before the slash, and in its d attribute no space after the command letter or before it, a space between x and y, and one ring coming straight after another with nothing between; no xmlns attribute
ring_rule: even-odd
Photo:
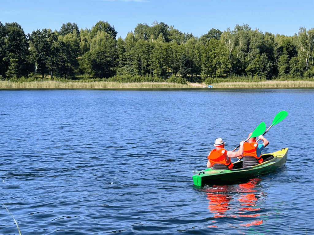
<svg viewBox="0 0 314 235"><path fill-rule="evenodd" d="M25 34L37 29L60 30L63 23L91 29L98 21L108 21L123 39L138 23L154 21L173 25L194 36L210 29L234 29L248 24L252 29L292 36L299 28L314 28L314 1L204 1L204 0L2 0L2 24L17 22Z"/></svg>

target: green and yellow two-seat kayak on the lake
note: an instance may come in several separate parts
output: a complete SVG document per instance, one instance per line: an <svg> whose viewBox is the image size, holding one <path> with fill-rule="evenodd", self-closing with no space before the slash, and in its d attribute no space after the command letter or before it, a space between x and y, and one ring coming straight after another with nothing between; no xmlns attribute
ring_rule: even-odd
<svg viewBox="0 0 314 235"><path fill-rule="evenodd" d="M213 170L208 168L193 175L194 186L202 187L203 185L232 184L257 175L266 174L282 167L288 155L288 148L283 148L270 154L262 154L263 162L242 168L243 161L234 162L232 170Z"/></svg>

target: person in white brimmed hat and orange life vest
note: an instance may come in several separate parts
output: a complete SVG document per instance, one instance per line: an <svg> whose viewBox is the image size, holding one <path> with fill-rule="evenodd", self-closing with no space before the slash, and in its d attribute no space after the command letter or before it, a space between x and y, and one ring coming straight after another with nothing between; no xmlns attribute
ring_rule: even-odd
<svg viewBox="0 0 314 235"><path fill-rule="evenodd" d="M233 164L230 158L241 157L243 154L243 144L244 141L240 142L240 148L237 152L227 151L225 149L225 142L222 138L217 138L214 146L216 149L213 149L208 154L207 167L213 167L213 169L229 169L232 170Z"/></svg>

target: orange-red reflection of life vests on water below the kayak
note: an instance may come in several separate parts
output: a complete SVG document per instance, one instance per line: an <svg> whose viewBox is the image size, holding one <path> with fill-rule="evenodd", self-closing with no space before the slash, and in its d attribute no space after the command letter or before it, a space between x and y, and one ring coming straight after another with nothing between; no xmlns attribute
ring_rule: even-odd
<svg viewBox="0 0 314 235"><path fill-rule="evenodd" d="M261 225L263 220L257 219L261 215L256 213L260 210L260 208L256 205L258 196L256 184L261 179L251 179L247 183L239 184L239 185L216 185L213 188L206 189L207 199L208 199L208 209L211 213L214 214L214 218L220 217L247 217L247 218L256 218L253 222L244 223L241 221L240 226L252 226L252 225ZM240 197L236 200L233 200L232 194L233 192L241 192ZM230 202L234 201L232 205ZM236 205L236 202L239 202L239 205ZM232 214L236 210L232 210L232 207L237 207L238 214ZM230 210L231 209L231 210ZM230 212L228 212L230 210ZM227 212L229 215L227 215ZM216 222L216 221L212 221ZM209 226L216 227L216 226Z"/></svg>

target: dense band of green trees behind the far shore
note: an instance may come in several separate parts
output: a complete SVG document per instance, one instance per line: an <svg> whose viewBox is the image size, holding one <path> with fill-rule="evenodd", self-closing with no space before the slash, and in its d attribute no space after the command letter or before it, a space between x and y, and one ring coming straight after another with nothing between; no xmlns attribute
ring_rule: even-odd
<svg viewBox="0 0 314 235"><path fill-rule="evenodd" d="M195 82L228 77L314 77L314 29L263 33L247 24L210 29L195 37L163 22L138 24L125 39L108 22L76 23L26 35L18 23L0 22L0 80L22 77ZM138 80L138 79L137 79Z"/></svg>

